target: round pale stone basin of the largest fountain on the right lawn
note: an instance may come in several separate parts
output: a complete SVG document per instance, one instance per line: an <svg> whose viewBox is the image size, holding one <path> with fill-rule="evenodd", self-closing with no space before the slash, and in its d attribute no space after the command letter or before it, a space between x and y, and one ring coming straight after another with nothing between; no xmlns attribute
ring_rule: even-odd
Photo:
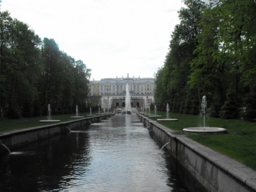
<svg viewBox="0 0 256 192"><path fill-rule="evenodd" d="M183 129L185 133L226 133L226 129L219 127L188 127Z"/></svg>

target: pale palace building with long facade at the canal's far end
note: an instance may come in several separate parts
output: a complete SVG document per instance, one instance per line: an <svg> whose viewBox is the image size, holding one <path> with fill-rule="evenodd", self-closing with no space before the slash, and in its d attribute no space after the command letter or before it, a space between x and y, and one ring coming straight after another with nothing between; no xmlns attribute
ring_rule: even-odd
<svg viewBox="0 0 256 192"><path fill-rule="evenodd" d="M126 86L129 89L132 107L141 107L145 99L154 102L155 79L129 77L129 74L121 78L91 80L90 96L101 96L102 99L112 100L112 107L124 107Z"/></svg>

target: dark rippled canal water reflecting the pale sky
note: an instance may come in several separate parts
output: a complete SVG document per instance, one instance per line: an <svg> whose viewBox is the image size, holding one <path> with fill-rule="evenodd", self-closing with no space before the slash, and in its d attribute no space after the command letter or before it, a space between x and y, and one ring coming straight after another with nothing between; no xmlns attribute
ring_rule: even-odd
<svg viewBox="0 0 256 192"><path fill-rule="evenodd" d="M199 191L135 115L116 115L0 159L0 191Z"/></svg>

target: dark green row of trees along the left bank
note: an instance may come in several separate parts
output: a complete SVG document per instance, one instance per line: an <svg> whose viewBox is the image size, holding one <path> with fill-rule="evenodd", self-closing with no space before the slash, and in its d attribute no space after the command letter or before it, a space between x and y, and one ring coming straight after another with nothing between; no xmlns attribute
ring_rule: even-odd
<svg viewBox="0 0 256 192"><path fill-rule="evenodd" d="M27 24L0 12L1 116L71 113L85 105L90 69L60 51L53 39L42 41Z"/></svg>

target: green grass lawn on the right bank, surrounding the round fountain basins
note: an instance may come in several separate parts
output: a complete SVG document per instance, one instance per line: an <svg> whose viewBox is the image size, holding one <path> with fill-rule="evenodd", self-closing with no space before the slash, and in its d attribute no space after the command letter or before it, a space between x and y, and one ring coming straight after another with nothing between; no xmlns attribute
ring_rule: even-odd
<svg viewBox="0 0 256 192"><path fill-rule="evenodd" d="M162 118L166 118L165 112L158 112L157 115L163 115ZM169 118L179 119L179 121L158 121L158 123L180 132L183 128L203 125L203 118L200 116L171 113ZM256 171L256 123L241 119L206 118L205 126L222 127L227 129L227 133L221 135L188 134L188 137Z"/></svg>

